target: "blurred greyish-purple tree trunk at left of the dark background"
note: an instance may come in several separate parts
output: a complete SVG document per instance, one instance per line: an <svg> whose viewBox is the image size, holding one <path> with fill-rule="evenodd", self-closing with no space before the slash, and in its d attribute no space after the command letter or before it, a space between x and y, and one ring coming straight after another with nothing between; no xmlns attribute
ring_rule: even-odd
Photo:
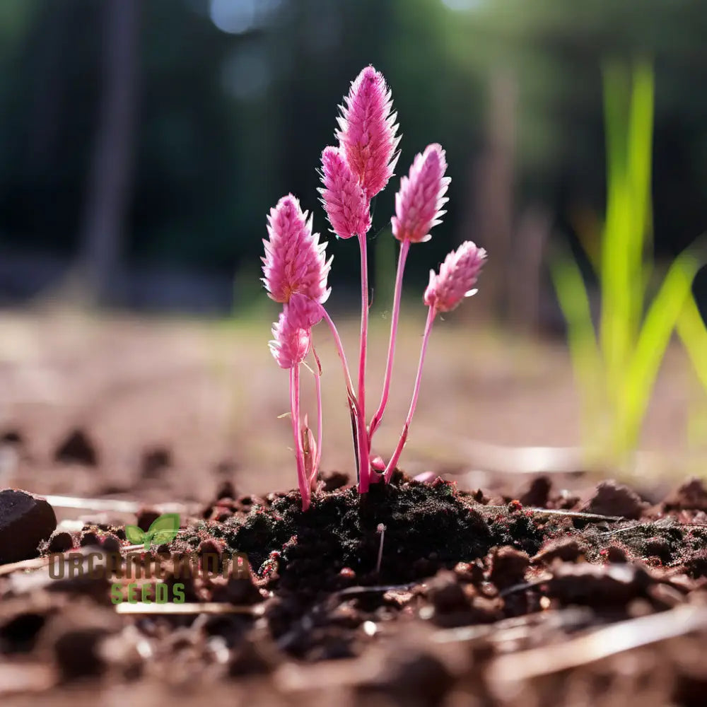
<svg viewBox="0 0 707 707"><path fill-rule="evenodd" d="M103 93L86 191L80 284L83 298L110 295L129 204L137 108L139 0L104 0Z"/></svg>

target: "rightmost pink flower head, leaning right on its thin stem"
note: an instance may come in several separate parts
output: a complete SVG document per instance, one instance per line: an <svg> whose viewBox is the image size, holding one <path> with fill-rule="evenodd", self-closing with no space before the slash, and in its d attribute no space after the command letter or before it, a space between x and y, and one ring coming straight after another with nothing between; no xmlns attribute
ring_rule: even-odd
<svg viewBox="0 0 707 707"><path fill-rule="evenodd" d="M440 267L439 274L430 271L430 283L425 290L424 302L436 312L450 312L464 297L476 292L476 284L486 251L470 240L452 250Z"/></svg>

